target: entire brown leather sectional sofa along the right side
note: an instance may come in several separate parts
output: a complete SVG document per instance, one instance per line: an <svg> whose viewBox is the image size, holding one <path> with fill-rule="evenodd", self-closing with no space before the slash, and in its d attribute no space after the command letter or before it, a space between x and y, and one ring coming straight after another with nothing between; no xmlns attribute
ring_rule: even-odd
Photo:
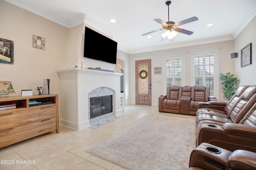
<svg viewBox="0 0 256 170"><path fill-rule="evenodd" d="M256 170L256 85L198 105L196 149L187 170Z"/></svg>

